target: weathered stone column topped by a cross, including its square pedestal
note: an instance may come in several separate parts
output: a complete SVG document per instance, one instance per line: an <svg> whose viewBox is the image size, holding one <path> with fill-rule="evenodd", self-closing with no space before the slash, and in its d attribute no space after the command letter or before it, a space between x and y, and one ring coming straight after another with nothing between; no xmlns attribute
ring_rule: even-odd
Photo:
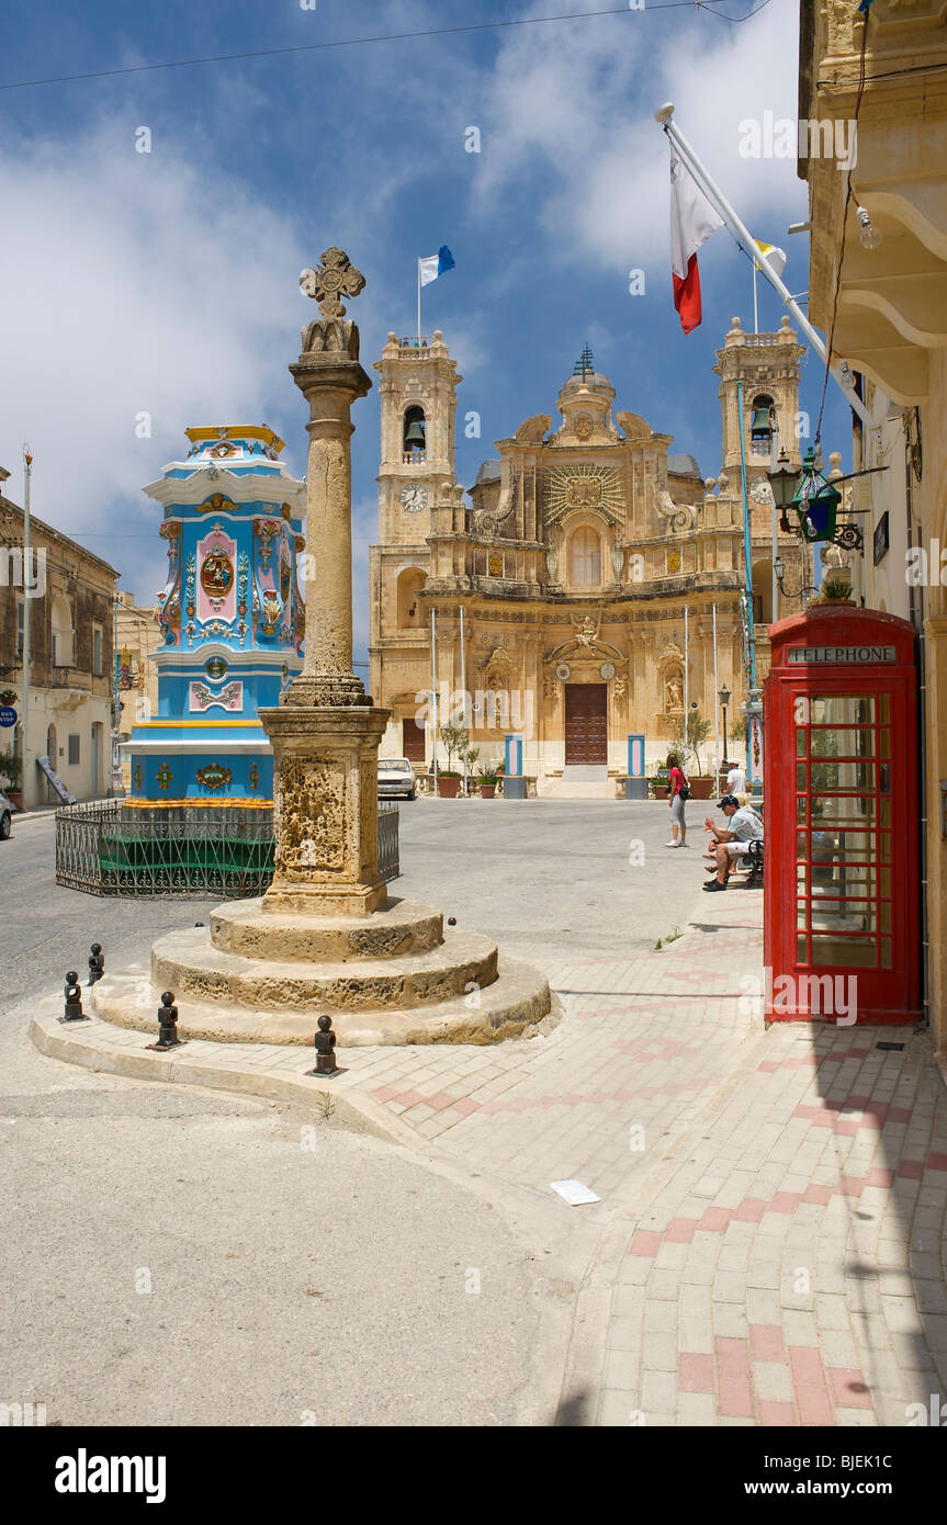
<svg viewBox="0 0 947 1525"><path fill-rule="evenodd" d="M259 711L274 756L276 872L264 910L364 917L387 898L377 837L378 743L389 718L352 669L351 407L372 383L340 297L358 296L364 276L328 249L300 285L322 314L303 328L290 366L310 404L307 648L279 708Z"/></svg>

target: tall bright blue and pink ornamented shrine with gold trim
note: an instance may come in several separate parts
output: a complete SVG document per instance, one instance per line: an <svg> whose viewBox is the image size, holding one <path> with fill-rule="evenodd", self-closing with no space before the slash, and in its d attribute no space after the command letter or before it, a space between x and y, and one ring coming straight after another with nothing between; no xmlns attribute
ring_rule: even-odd
<svg viewBox="0 0 947 1525"><path fill-rule="evenodd" d="M273 802L273 753L258 720L302 669L297 581L305 482L265 425L188 429L186 461L145 488L163 508L159 709L134 726L133 808Z"/></svg>

